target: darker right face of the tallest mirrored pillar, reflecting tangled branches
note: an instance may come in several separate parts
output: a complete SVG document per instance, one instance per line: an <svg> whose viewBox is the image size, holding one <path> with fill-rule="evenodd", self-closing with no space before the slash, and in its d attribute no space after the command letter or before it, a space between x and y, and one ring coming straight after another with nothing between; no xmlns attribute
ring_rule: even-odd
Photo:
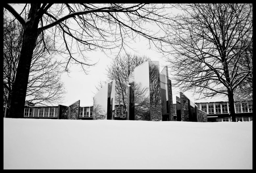
<svg viewBox="0 0 256 173"><path fill-rule="evenodd" d="M150 120L162 121L159 62L149 61Z"/></svg>

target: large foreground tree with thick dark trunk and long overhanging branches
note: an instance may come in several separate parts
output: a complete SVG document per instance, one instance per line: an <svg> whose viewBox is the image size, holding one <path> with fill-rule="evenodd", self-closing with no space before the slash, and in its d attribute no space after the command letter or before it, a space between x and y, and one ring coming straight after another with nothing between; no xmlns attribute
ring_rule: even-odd
<svg viewBox="0 0 256 173"><path fill-rule="evenodd" d="M29 77L29 66L38 36L58 40L54 47L65 48L66 70L80 64L86 72L90 65L87 51L119 49L135 38L148 39L150 46L162 44L164 25L168 25L166 5L154 4L24 4L18 13L4 4L23 26L20 59L13 84L10 117L22 117ZM167 7L169 8L169 7ZM157 31L146 24L159 26ZM61 40L61 41L60 41ZM45 43L45 41L43 41ZM47 47L45 46L47 50ZM57 48L56 48L57 49ZM75 49L75 50L74 50Z"/></svg>

